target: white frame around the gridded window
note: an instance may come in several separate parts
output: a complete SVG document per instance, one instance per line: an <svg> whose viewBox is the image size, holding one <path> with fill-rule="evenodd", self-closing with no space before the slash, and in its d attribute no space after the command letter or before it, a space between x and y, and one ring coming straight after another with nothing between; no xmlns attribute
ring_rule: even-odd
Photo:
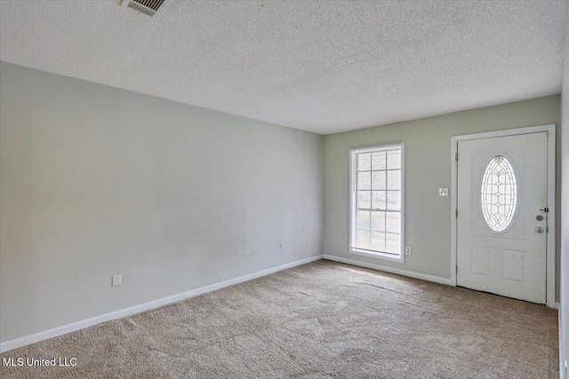
<svg viewBox="0 0 569 379"><path fill-rule="evenodd" d="M356 206L357 206L357 154L373 153L385 150L392 150L394 148L401 149L401 249L399 255L357 249L353 246L356 241ZM349 247L348 250L351 254L358 256L373 257L384 259L392 262L404 263L405 262L405 143L358 147L349 150Z"/></svg>

